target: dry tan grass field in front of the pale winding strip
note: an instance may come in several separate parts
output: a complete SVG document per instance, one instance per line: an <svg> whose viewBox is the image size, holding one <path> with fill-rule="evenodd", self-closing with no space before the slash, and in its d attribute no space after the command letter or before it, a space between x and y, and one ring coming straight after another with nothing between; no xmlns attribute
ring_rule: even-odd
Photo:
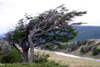
<svg viewBox="0 0 100 67"><path fill-rule="evenodd" d="M49 60L55 60L56 62L60 62L61 64L69 65L69 67L100 67L100 61L66 57L57 55L53 52L45 53L50 54Z"/></svg>

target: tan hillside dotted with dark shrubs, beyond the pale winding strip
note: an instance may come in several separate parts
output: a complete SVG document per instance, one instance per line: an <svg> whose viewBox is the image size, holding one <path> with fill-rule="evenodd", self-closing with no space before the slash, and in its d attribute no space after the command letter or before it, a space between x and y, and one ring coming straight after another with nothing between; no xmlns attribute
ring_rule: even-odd
<svg viewBox="0 0 100 67"><path fill-rule="evenodd" d="M100 59L100 39L90 39L69 43L62 43L63 49L60 51L83 57Z"/></svg>

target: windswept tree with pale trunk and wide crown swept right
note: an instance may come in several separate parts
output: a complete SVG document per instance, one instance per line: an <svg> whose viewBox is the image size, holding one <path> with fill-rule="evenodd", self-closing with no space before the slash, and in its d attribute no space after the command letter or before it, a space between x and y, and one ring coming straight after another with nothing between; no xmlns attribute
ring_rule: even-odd
<svg viewBox="0 0 100 67"><path fill-rule="evenodd" d="M10 43L11 40L11 45L13 43L19 44L23 49L23 55L24 51L28 51L30 47L29 62L33 62L35 46L47 43L68 42L73 39L77 35L73 26L82 24L82 22L74 23L73 19L83 14L86 14L86 11L69 11L61 5L56 9L45 11L32 18L26 16L29 23L21 25L22 27L19 25L17 26L18 29L15 28L14 31L11 31L10 36L13 39L10 38L8 41ZM17 47L15 48L18 50Z"/></svg>

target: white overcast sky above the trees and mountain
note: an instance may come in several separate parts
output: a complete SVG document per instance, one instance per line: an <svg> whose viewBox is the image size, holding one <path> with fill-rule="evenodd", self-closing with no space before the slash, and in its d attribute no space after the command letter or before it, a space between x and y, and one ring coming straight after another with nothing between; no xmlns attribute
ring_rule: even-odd
<svg viewBox="0 0 100 67"><path fill-rule="evenodd" d="M100 26L99 0L0 0L0 34L13 28L25 13L35 16L62 4L69 10L87 11L76 21L86 22L88 26Z"/></svg>

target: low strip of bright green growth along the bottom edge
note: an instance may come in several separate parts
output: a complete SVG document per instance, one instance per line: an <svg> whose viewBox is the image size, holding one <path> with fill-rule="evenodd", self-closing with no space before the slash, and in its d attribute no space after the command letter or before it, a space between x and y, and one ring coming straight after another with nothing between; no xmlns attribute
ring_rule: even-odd
<svg viewBox="0 0 100 67"><path fill-rule="evenodd" d="M0 65L0 67L68 67L68 65L60 65L60 63L55 61L48 61L42 63L13 63Z"/></svg>

